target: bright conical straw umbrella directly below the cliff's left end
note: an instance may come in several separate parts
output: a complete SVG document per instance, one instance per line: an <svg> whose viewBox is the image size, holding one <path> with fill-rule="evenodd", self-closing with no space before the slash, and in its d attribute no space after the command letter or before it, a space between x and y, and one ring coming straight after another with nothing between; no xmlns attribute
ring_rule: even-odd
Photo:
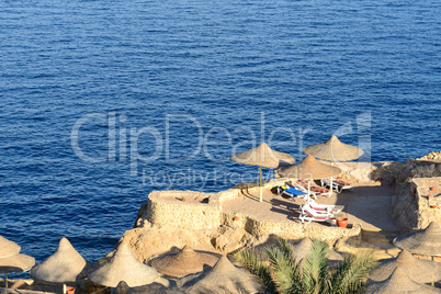
<svg viewBox="0 0 441 294"><path fill-rule="evenodd" d="M139 260L137 260L125 242L120 244L116 252L110 260L89 275L90 280L97 284L116 287L121 281L125 281L128 286L142 286L152 282L168 282L159 276L159 273Z"/></svg>

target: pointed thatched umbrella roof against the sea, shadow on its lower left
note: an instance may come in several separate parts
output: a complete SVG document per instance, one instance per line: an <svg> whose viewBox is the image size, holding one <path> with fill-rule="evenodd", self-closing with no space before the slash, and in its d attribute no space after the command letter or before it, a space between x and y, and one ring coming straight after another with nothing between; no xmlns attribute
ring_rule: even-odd
<svg viewBox="0 0 441 294"><path fill-rule="evenodd" d="M87 261L67 238L61 238L54 255L31 270L31 278L42 282L75 282L86 270Z"/></svg>

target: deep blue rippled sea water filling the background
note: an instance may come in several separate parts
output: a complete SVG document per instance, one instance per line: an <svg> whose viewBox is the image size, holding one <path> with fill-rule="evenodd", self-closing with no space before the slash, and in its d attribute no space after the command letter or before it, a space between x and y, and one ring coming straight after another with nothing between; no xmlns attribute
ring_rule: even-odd
<svg viewBox="0 0 441 294"><path fill-rule="evenodd" d="M440 150L439 1L1 1L0 235L88 260L152 190L253 180L262 140ZM271 170L264 170L271 177Z"/></svg>

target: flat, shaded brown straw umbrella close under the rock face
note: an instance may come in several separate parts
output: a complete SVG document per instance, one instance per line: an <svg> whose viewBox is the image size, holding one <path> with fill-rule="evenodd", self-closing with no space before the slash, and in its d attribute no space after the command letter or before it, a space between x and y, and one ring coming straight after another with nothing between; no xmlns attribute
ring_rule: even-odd
<svg viewBox="0 0 441 294"><path fill-rule="evenodd" d="M181 278L191 273L202 272L204 267L212 268L218 258L210 255L194 251L190 246L185 246L177 255L165 256L155 259L151 267L162 274Z"/></svg>

